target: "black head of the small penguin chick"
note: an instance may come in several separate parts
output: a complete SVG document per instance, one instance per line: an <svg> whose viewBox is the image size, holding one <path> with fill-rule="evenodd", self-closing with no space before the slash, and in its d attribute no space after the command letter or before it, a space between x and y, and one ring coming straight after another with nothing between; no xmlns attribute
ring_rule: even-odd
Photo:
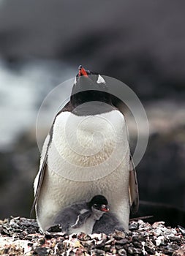
<svg viewBox="0 0 185 256"><path fill-rule="evenodd" d="M103 195L95 195L88 203L88 206L92 209L92 211L102 211L102 213L109 211L107 205L107 199Z"/></svg>

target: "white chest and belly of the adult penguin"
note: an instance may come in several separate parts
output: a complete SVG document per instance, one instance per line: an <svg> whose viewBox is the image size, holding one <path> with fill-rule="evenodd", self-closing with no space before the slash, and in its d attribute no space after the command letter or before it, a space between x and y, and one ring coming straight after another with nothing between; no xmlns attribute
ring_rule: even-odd
<svg viewBox="0 0 185 256"><path fill-rule="evenodd" d="M118 110L95 116L61 113L53 126L48 169L39 196L39 225L53 225L55 215L72 203L104 195L119 219L129 219L129 143ZM118 216L119 215L119 216ZM94 225L88 219L84 232ZM74 229L77 233L78 230Z"/></svg>

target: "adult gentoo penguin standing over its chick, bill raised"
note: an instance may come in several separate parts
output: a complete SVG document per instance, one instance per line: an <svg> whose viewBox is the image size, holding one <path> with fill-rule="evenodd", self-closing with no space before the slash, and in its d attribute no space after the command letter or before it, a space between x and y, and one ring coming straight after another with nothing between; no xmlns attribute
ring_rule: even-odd
<svg viewBox="0 0 185 256"><path fill-rule="evenodd" d="M42 231L67 206L105 195L128 230L138 190L127 125L106 78L79 67L67 105L54 118L34 180L34 203Z"/></svg>

